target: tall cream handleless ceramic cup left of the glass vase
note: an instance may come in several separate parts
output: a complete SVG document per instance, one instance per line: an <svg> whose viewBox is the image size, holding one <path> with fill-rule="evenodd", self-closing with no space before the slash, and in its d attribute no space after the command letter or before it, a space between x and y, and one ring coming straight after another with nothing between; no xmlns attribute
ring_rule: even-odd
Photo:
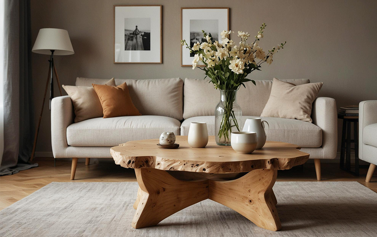
<svg viewBox="0 0 377 237"><path fill-rule="evenodd" d="M207 146L207 123L190 123L189 137L187 137L187 141L191 147L200 148Z"/></svg>

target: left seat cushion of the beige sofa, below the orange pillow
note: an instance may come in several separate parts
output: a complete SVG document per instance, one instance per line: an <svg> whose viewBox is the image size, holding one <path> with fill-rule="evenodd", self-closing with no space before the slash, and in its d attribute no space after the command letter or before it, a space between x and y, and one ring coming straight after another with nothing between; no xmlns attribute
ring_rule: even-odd
<svg viewBox="0 0 377 237"><path fill-rule="evenodd" d="M159 138L162 132L179 135L177 119L155 115L94 118L67 127L69 146L118 146L132 140Z"/></svg>

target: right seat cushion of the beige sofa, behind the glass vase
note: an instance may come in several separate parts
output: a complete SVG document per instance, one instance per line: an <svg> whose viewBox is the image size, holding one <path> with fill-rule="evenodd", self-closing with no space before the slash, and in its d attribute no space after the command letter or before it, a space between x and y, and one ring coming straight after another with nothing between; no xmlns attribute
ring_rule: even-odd
<svg viewBox="0 0 377 237"><path fill-rule="evenodd" d="M257 118L253 116L242 116L242 125L246 119ZM267 140L282 141L296 144L300 147L320 147L322 146L322 129L313 123L296 119L282 119L272 117L261 117L270 125L267 131ZM181 135L189 134L191 122L207 123L208 135L215 135L215 116L198 116L186 119L181 125ZM267 127L267 126L266 126Z"/></svg>

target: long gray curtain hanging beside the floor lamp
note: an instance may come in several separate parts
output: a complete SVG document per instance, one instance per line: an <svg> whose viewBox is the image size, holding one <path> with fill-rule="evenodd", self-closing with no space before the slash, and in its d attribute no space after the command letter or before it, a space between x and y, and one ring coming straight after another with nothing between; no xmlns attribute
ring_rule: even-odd
<svg viewBox="0 0 377 237"><path fill-rule="evenodd" d="M4 152L0 160L0 175L12 175L38 164L28 162L35 132L30 66L30 0L4 2Z"/></svg>

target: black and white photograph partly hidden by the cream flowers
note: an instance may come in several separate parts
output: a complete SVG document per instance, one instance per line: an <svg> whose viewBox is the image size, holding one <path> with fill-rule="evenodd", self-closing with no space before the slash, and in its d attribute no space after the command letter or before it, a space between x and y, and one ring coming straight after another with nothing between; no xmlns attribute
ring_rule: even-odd
<svg viewBox="0 0 377 237"><path fill-rule="evenodd" d="M190 20L190 47L193 47L195 43L203 43L207 41L203 37L203 32L209 35L211 33L212 41L219 40L219 20ZM190 57L193 57L195 53L190 53Z"/></svg>

